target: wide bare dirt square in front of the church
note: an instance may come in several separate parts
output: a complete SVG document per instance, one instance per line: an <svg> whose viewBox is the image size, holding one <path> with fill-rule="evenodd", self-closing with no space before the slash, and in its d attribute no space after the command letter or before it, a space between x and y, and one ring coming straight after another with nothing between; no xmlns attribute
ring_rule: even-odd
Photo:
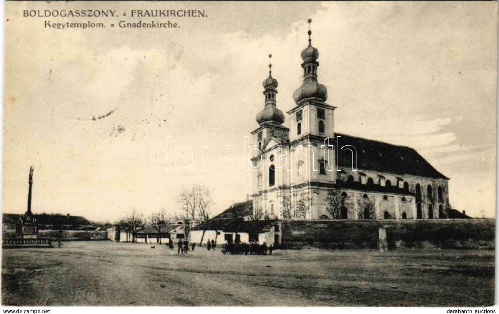
<svg viewBox="0 0 499 314"><path fill-rule="evenodd" d="M495 251L282 250L222 255L108 241L2 251L2 304L487 306Z"/></svg>

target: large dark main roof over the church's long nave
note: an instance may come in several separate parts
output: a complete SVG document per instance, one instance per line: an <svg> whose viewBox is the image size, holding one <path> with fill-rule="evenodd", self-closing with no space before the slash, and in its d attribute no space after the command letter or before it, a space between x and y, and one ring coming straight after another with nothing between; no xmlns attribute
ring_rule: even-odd
<svg viewBox="0 0 499 314"><path fill-rule="evenodd" d="M358 169L448 179L410 147L357 138L346 134L337 133L336 135L341 136L339 139L340 148L352 145L357 150ZM341 151L338 160L339 167L351 168L351 158L349 151Z"/></svg>

